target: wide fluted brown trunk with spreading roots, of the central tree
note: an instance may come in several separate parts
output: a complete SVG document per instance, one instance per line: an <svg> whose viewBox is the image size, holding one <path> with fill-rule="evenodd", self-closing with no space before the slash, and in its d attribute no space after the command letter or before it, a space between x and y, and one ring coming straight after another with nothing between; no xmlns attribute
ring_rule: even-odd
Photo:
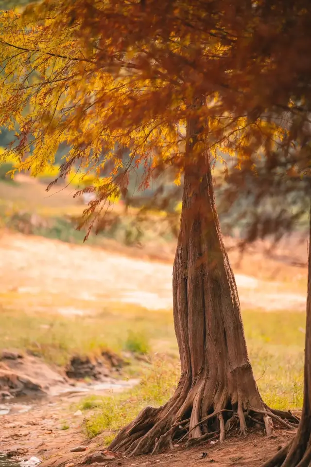
<svg viewBox="0 0 311 467"><path fill-rule="evenodd" d="M203 104L198 100L196 106ZM199 112L193 107L194 117L187 121L183 205L173 266L181 377L167 404L144 409L109 447L132 455L172 447L173 439L187 439L193 445L219 433L223 441L230 428L239 425L245 434L247 423L260 426L262 419L267 434L272 434L270 415L279 418L263 403L248 359L237 287L216 212L208 144L197 136L206 123L195 116Z"/></svg>

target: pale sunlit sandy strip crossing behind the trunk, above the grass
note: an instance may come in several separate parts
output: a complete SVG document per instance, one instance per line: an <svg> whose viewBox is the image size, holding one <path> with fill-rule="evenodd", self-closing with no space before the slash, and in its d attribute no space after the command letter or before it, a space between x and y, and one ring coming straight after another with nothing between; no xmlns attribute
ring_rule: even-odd
<svg viewBox="0 0 311 467"><path fill-rule="evenodd" d="M274 262L275 268L278 266L283 273L286 270L292 281L286 284L268 282L254 277L259 271L257 265L264 262L262 255L261 263L260 254L248 254L237 266L237 254L234 251L229 254L233 258L244 308L305 309L303 287L297 287L305 277L304 269ZM172 308L173 305L172 263L5 232L0 238L0 258L3 307L18 306L69 315L96 312L107 301L132 303L149 309ZM252 275L245 274L247 270Z"/></svg>

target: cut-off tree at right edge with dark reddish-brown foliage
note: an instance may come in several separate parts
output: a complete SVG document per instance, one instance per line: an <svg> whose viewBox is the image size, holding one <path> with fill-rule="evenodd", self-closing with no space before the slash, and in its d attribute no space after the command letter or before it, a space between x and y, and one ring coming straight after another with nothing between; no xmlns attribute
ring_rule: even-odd
<svg viewBox="0 0 311 467"><path fill-rule="evenodd" d="M264 163L254 159L245 161L244 173L232 174L233 185L229 190L236 193L239 187L247 190L246 180L255 182L249 193L264 203L268 195L280 199L278 215L270 218L257 210L256 218L249 223L246 240L254 240L267 234L276 239L287 233L293 223L306 214L310 203L311 168L311 11L306 1L260 1L256 6L256 18L245 24L249 40L239 56L239 66L244 72L245 92L239 94L240 106L248 109L253 119L265 121L267 126L283 128L282 133L269 131L257 141L249 139L253 155L263 155ZM257 60L254 60L257 57ZM238 72L238 66L234 69ZM245 100L244 105L242 101ZM245 179L245 175L247 178ZM285 206L285 202L289 202ZM309 234L310 235L310 234ZM310 241L310 239L309 239ZM307 325L305 346L304 404L299 429L292 442L280 449L264 467L307 467L311 462L311 260L309 246L309 279L307 297Z"/></svg>

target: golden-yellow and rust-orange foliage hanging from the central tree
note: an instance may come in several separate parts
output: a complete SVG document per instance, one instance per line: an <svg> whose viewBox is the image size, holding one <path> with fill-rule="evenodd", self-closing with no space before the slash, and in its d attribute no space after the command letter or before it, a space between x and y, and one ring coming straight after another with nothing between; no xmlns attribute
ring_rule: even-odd
<svg viewBox="0 0 311 467"><path fill-rule="evenodd" d="M77 161L86 175L95 170L97 176L112 162L110 177L84 188L98 193L87 215L126 193L129 173L138 165L144 167L141 187L168 165L179 182L181 127L194 116L208 117L194 160L201 157L207 134L216 159L237 147L244 157L248 126L257 137L270 136L276 126L261 121L252 126L244 109L236 114L229 100L219 97L222 86L226 89L219 83L235 76L229 52L238 27L226 1L221 8L198 1L189 9L183 1L152 0L143 7L63 0L31 6L23 15L3 13L0 125L17 128L18 168L44 171L60 144L70 148L60 177ZM207 106L195 104L202 94ZM130 154L124 156L126 147Z"/></svg>

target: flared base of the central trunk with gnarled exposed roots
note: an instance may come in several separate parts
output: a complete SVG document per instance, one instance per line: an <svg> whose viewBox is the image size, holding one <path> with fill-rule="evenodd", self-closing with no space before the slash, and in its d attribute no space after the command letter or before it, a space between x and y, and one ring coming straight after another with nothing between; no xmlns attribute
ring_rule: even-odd
<svg viewBox="0 0 311 467"><path fill-rule="evenodd" d="M256 385L247 384L248 380L253 380L250 365L240 368L232 380L243 381L248 391L242 391L238 383L229 391L226 382L221 384L206 375L192 383L190 377L182 376L167 404L143 409L120 431L108 450L137 456L156 453L166 447L173 449L174 443L190 447L213 438L222 442L229 431L246 435L252 426L264 429L271 436L273 420L287 429L298 426L299 419L292 413L269 409L262 402Z"/></svg>

